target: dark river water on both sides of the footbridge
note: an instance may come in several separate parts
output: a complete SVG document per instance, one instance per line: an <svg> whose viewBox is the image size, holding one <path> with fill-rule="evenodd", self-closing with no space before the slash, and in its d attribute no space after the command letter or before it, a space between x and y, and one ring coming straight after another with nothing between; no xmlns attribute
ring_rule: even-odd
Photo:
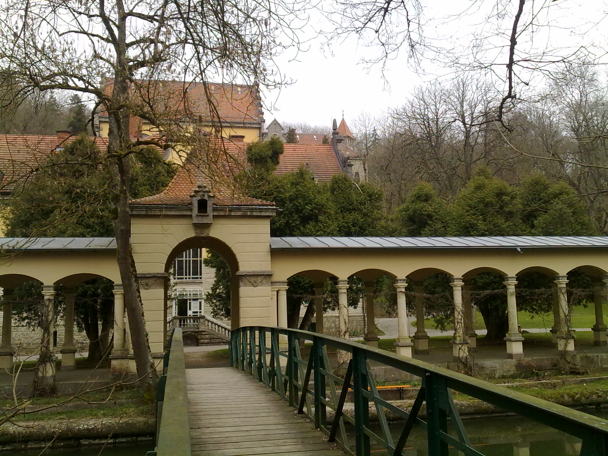
<svg viewBox="0 0 608 456"><path fill-rule="evenodd" d="M601 416L608 420L605 410L585 410L586 413ZM581 441L570 435L551 429L521 416L502 416L496 418L474 418L464 420L465 428L473 447L484 456L578 456ZM399 438L403 423L390 423L393 439ZM373 429L379 434L379 426ZM454 435L452 429L450 434ZM353 434L349 435L354 444ZM415 427L412 430L404 456L426 456L426 432ZM102 447L79 447L70 449L52 449L41 453L40 450L26 452L2 452L7 456L144 456L154 449L152 443L137 445L122 444ZM372 447L373 456L384 456L386 451L378 445ZM450 456L459 454L454 448Z"/></svg>

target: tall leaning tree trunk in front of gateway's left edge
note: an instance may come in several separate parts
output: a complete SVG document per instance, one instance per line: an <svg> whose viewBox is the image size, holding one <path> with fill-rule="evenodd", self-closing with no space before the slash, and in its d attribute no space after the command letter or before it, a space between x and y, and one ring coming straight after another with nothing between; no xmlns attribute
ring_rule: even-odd
<svg viewBox="0 0 608 456"><path fill-rule="evenodd" d="M124 17L120 15L121 17ZM125 22L123 22L125 21ZM140 379L140 388L151 390L156 386L158 375L152 359L148 333L143 317L143 305L139 294L139 281L135 261L131 254L131 215L129 213L129 116L125 106L129 100L128 68L126 67L126 18L119 24L117 41L117 66L114 72L114 88L108 109L108 156L112 169L112 184L116 218L113 221L114 236L118 249L120 279L125 292L125 310L131 332L131 345Z"/></svg>

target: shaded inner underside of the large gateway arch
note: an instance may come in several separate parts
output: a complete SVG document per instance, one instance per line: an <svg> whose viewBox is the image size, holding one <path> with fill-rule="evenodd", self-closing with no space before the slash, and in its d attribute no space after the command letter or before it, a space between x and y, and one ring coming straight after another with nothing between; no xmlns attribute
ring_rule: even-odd
<svg viewBox="0 0 608 456"><path fill-rule="evenodd" d="M179 254L189 249L208 249L217 252L228 264L230 269L230 324L232 328L239 326L239 282L237 273L240 271L237 255L224 241L210 236L195 236L177 244L165 261L165 272L169 272ZM168 281L165 283L165 299L168 297ZM165 302L165 328L167 327L167 302Z"/></svg>

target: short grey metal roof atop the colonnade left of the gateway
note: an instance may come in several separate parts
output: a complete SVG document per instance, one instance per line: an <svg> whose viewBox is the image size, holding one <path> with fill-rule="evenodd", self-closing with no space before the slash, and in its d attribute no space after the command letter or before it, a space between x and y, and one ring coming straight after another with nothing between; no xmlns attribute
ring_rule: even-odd
<svg viewBox="0 0 608 456"><path fill-rule="evenodd" d="M114 238L0 238L7 250L116 250Z"/></svg>

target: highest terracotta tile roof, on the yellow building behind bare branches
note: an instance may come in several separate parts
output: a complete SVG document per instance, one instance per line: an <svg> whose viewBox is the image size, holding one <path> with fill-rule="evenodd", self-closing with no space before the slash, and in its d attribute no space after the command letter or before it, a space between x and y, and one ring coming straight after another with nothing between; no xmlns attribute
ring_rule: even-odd
<svg viewBox="0 0 608 456"><path fill-rule="evenodd" d="M112 79L104 81L103 92L110 94ZM208 95L205 86L207 86ZM212 102L212 109L209 105ZM170 111L173 116L199 117L203 122L218 120L226 123L260 124L262 111L255 86L184 81L138 81L131 87L131 102L143 112ZM216 111L216 112L215 112ZM108 117L102 109L100 117Z"/></svg>

